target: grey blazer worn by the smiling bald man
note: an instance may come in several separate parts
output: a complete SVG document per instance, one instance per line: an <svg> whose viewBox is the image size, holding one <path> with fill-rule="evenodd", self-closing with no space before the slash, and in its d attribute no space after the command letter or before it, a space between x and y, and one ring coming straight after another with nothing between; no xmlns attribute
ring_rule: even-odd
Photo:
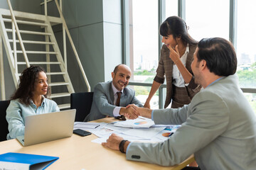
<svg viewBox="0 0 256 170"><path fill-rule="evenodd" d="M114 92L111 83L112 81L107 81L95 86L92 108L84 121L106 118L106 115L113 117L114 108L117 106L114 106ZM129 104L143 107L142 103L135 97L135 91L125 87L120 98L120 106L126 107Z"/></svg>

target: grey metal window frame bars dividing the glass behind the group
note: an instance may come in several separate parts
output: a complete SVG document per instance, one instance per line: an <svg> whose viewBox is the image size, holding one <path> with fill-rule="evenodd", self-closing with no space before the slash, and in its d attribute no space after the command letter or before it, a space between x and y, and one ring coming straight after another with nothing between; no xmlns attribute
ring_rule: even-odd
<svg viewBox="0 0 256 170"><path fill-rule="evenodd" d="M178 16L186 21L186 0L178 1ZM165 0L158 0L158 25L165 18ZM129 1L122 0L122 63L130 64L129 60ZM230 24L229 24L229 38L230 42L233 43L235 49L237 49L237 16L238 16L238 0L230 0ZM159 35L159 52L161 51L161 35ZM159 55L160 59L160 55ZM130 81L129 85L132 86L151 86L149 83L139 83ZM163 89L166 88L166 84L161 84L159 87L159 108L164 108L164 93ZM241 88L243 93L256 94L256 88Z"/></svg>

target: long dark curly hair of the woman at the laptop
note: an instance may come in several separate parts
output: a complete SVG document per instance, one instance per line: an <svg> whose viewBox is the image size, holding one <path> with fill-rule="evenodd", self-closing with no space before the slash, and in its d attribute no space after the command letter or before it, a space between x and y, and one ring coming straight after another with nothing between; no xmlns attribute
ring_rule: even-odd
<svg viewBox="0 0 256 170"><path fill-rule="evenodd" d="M24 69L20 76L18 89L15 91L14 95L11 96L11 100L18 98L21 103L29 105L31 103L31 98L33 98L33 91L35 90L39 72L45 71L40 66L31 66Z"/></svg>

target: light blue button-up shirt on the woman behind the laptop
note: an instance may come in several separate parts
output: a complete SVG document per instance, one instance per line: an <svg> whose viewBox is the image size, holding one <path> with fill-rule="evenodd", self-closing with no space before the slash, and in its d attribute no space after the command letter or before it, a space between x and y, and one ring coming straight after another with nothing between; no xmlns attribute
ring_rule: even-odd
<svg viewBox="0 0 256 170"><path fill-rule="evenodd" d="M14 139L24 135L25 118L29 115L39 115L42 113L51 113L60 111L57 103L48 98L43 97L43 102L38 108L31 100L31 104L26 106L19 102L18 99L11 101L6 110L6 120L8 122L9 134L7 140Z"/></svg>

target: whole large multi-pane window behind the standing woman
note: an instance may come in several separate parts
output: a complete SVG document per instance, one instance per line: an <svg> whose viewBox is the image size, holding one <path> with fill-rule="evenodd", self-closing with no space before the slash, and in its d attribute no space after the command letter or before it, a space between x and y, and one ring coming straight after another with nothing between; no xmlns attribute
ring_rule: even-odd
<svg viewBox="0 0 256 170"><path fill-rule="evenodd" d="M129 3L127 3L129 1ZM128 5L129 52L124 52L132 68L132 85L142 102L146 101L156 74L161 37L159 26L169 16L181 16L196 40L221 37L233 42L238 55L240 87L256 113L256 1L254 0L124 0ZM179 9L179 10L178 10ZM127 63L124 61L124 63ZM127 63L128 64L128 63ZM164 86L155 94L164 103ZM155 104L155 103L154 103Z"/></svg>

